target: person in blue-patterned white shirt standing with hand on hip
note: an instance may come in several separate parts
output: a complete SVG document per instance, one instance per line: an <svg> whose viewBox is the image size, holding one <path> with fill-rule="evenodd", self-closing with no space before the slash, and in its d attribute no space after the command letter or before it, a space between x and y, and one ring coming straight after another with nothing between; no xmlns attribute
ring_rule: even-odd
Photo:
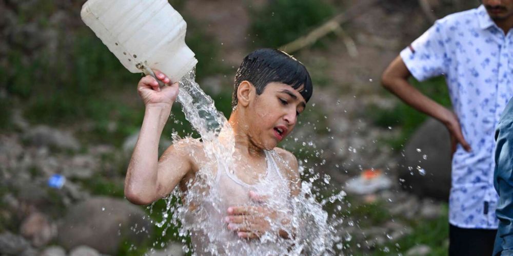
<svg viewBox="0 0 513 256"><path fill-rule="evenodd" d="M437 20L382 75L386 89L442 122L451 135L449 255L490 255L494 248L494 132L513 96L511 27L513 0L483 0L476 9ZM410 76L444 76L454 112L411 86Z"/></svg>

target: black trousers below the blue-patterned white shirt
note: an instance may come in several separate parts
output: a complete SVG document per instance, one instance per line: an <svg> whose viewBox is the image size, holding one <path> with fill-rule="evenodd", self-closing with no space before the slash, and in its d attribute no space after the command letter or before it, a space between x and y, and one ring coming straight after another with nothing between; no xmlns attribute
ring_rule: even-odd
<svg viewBox="0 0 513 256"><path fill-rule="evenodd" d="M449 256L489 256L497 229L459 228L449 224Z"/></svg>

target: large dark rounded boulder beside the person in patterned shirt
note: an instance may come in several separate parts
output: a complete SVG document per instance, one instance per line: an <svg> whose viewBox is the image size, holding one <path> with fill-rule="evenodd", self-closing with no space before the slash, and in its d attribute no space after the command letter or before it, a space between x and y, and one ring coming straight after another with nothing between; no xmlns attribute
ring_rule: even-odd
<svg viewBox="0 0 513 256"><path fill-rule="evenodd" d="M400 158L402 187L421 197L447 200L450 190L450 136L446 127L428 119L413 134Z"/></svg>

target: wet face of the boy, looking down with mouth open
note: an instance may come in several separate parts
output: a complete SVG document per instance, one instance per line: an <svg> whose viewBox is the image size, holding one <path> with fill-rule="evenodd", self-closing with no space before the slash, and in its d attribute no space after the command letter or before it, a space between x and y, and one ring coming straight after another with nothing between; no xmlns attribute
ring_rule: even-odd
<svg viewBox="0 0 513 256"><path fill-rule="evenodd" d="M272 150L292 132L305 106L303 96L288 84L267 84L262 94L255 95L248 105L248 135L252 142Z"/></svg>

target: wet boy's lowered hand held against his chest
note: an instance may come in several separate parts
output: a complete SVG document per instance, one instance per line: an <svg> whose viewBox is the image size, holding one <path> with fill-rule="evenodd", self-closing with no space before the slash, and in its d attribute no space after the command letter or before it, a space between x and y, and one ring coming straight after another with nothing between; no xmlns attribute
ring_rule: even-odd
<svg viewBox="0 0 513 256"><path fill-rule="evenodd" d="M267 200L267 197L259 196L253 191L249 192L249 197L256 202ZM265 206L231 206L227 211L225 221L228 229L245 239L260 238L271 230L271 223L277 223L279 219L277 211Z"/></svg>

